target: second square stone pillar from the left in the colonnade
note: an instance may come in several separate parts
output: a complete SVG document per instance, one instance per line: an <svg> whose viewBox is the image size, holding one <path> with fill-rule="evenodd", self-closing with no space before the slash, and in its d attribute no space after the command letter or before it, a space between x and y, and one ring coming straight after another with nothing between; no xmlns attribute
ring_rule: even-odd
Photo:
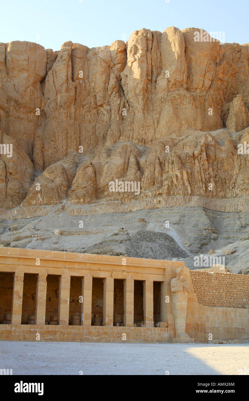
<svg viewBox="0 0 249 401"><path fill-rule="evenodd" d="M39 274L37 276L37 283L36 283L35 324L45 324L46 297L47 297L47 275Z"/></svg>

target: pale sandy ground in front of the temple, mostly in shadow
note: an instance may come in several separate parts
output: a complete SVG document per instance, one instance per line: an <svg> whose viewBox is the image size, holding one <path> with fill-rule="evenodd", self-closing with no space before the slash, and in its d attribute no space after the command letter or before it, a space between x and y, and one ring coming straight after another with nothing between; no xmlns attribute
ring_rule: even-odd
<svg viewBox="0 0 249 401"><path fill-rule="evenodd" d="M249 375L249 344L0 341L13 375Z"/></svg>

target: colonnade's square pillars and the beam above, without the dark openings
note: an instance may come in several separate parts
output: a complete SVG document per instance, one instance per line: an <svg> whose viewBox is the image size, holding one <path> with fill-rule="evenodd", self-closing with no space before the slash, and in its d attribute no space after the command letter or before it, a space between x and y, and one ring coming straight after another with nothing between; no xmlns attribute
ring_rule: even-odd
<svg viewBox="0 0 249 401"><path fill-rule="evenodd" d="M125 264L124 264L125 263ZM82 279L81 325L92 323L92 279L102 278L104 283L103 326L114 322L114 279L124 282L124 326L133 326L134 280L143 281L143 322L153 327L153 282L161 283L161 322L173 327L170 298L170 280L177 267L184 263L153 259L138 259L108 255L88 255L33 249L0 248L0 271L14 273L12 313L10 324L21 324L24 273L36 274L36 325L45 324L47 276L59 275L58 325L68 325L70 279ZM188 270L188 269L186 269Z"/></svg>

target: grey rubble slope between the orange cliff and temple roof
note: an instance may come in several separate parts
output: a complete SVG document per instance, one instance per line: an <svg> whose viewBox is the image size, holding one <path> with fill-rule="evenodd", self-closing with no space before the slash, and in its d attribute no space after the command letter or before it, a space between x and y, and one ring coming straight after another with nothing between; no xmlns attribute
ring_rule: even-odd
<svg viewBox="0 0 249 401"><path fill-rule="evenodd" d="M169 224L165 225L165 221ZM132 213L70 216L62 203L46 216L0 220L0 244L179 260L190 269L198 268L194 258L203 254L225 257L225 265L232 272L248 274L249 212L160 207Z"/></svg>

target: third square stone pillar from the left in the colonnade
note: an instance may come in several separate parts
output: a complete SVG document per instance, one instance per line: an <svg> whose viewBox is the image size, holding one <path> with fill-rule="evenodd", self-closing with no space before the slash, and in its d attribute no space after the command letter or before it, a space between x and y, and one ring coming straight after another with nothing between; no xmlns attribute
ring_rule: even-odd
<svg viewBox="0 0 249 401"><path fill-rule="evenodd" d="M70 274L60 276L58 324L68 326L70 298Z"/></svg>

